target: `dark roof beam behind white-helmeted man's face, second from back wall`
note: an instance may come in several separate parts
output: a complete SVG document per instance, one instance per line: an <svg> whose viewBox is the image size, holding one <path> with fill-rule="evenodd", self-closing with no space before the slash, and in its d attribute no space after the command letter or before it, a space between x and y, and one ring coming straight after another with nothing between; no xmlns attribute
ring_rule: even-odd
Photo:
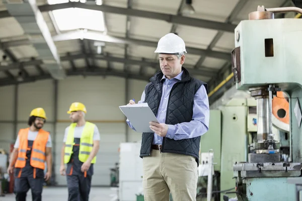
<svg viewBox="0 0 302 201"><path fill-rule="evenodd" d="M125 58L119 58L119 57L113 57L108 55L99 55L99 54L71 54L69 53L66 56L61 56L61 61L71 61L75 59L85 59L85 58L92 58L96 60L105 60L107 62L119 62L124 63L127 65L143 65L143 66L150 66L155 69L159 69L159 63L155 61L146 61L146 60L134 60L134 59L125 59ZM0 66L0 71L5 70L12 70L12 69L18 69L20 64L24 66L31 66L31 65L40 65L42 64L42 60L30 60L30 61L24 61L21 63L12 63L7 66ZM193 65L184 65L184 67L187 67L187 70L195 75L204 75L204 76L214 76L217 73L217 70L214 71L212 68L202 68L202 69L193 69Z"/></svg>

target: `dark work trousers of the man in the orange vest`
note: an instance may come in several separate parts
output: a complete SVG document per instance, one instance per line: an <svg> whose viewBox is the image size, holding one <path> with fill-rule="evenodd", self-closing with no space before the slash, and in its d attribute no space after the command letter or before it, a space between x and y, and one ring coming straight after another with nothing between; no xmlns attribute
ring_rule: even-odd
<svg viewBox="0 0 302 201"><path fill-rule="evenodd" d="M25 201L29 188L32 191L32 201L42 200L44 178L33 178L33 176L15 178L16 201Z"/></svg>

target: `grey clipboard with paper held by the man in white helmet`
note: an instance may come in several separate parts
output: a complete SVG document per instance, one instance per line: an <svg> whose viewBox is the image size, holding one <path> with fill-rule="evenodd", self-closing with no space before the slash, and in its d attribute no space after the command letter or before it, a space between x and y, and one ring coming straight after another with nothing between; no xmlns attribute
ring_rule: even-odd
<svg viewBox="0 0 302 201"><path fill-rule="evenodd" d="M159 121L147 103L119 106L119 108L128 118L136 132L154 133L149 127L149 122L159 123Z"/></svg>

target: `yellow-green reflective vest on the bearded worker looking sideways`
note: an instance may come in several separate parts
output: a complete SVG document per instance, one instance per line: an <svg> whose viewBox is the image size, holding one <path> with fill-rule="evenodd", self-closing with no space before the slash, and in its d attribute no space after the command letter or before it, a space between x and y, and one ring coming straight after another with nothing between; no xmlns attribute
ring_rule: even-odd
<svg viewBox="0 0 302 201"><path fill-rule="evenodd" d="M68 163L70 161L70 157L72 152L72 148L74 143L74 129L77 126L77 123L72 123L69 126L67 139L65 142L64 149L64 163ZM79 150L79 160L81 162L86 162L89 158L89 154L93 148L93 134L94 134L95 124L86 122L81 138L80 138L80 150ZM95 156L91 163L96 163L97 157Z"/></svg>

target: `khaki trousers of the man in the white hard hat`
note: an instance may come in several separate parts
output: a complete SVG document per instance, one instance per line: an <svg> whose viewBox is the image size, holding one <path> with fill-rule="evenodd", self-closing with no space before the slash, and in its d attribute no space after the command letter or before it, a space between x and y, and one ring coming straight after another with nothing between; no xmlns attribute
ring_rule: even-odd
<svg viewBox="0 0 302 201"><path fill-rule="evenodd" d="M193 156L151 150L143 157L145 201L196 201L198 168Z"/></svg>

